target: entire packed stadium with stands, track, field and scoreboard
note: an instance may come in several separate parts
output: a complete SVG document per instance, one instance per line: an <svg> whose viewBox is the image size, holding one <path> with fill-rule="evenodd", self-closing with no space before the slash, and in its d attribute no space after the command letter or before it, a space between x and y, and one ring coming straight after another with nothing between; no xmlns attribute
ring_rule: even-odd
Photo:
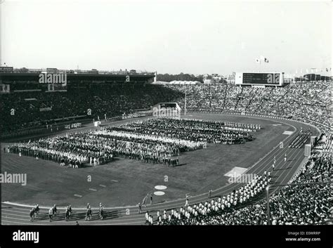
<svg viewBox="0 0 333 248"><path fill-rule="evenodd" d="M2 225L332 223L330 77L1 67L0 80L1 180L18 176L1 185Z"/></svg>

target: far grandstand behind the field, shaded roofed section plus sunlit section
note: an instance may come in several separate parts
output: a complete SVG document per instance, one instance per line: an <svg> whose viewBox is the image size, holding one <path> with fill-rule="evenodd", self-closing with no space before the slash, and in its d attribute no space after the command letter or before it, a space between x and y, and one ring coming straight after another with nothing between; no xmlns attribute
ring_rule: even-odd
<svg viewBox="0 0 333 248"><path fill-rule="evenodd" d="M4 67L1 67L4 68ZM6 67L5 67L6 68ZM32 132L32 127L91 121L133 114L160 102L178 102L188 111L235 112L306 119L330 126L330 81L295 81L284 87L239 87L224 84L151 84L153 72L57 70L67 85L40 84L44 70L0 72L1 136ZM47 70L46 70L47 71ZM48 70L51 72L51 70ZM77 72L77 74L74 74ZM128 76L129 81L126 81ZM53 84L54 85L54 84ZM10 103L10 104L8 104ZM90 111L88 111L90 110Z"/></svg>

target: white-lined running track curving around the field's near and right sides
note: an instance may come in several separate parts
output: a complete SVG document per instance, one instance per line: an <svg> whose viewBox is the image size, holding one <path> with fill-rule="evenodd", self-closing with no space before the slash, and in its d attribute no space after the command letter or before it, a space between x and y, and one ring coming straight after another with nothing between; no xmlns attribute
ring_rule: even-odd
<svg viewBox="0 0 333 248"><path fill-rule="evenodd" d="M213 114L216 115L216 114ZM242 116L244 117L244 116ZM264 171L271 171L272 183L287 183L292 176L296 173L299 165L304 159L303 152L304 149L288 148L290 141L297 135L301 126L303 130L308 129L306 124L301 124L299 122L292 122L285 119L272 119L268 117L254 117L259 119L269 119L278 123L284 123L292 126L294 133L290 136L286 136L284 142L284 148L280 148L277 144L273 150L268 152L264 157L262 157L254 166L250 167L245 171L247 174L263 174ZM311 128L312 133L318 135L318 131ZM284 161L285 153L287 153L287 162ZM273 158L276 158L275 171L272 171ZM228 193L233 190L240 188L241 183L231 183L222 188L218 188L211 193L211 198L219 197L223 195L228 195ZM277 190L277 186L270 188L270 194ZM199 202L204 202L208 199L208 194L197 195L189 198L189 204L196 204ZM73 208L72 216L70 221L65 221L65 208L58 207L58 215L55 216L52 222L48 220L48 209L50 207L41 207L39 211L39 216L33 221L30 221L30 209L32 206L22 205L22 204L12 204L8 202L1 202L1 225L75 225L75 221L79 221L79 225L144 225L145 224L145 211L149 211L150 214L156 220L156 211L162 212L164 209L166 211L170 209L179 209L184 206L185 198L178 199L170 202L163 202L159 204L147 205L142 207L143 212L138 214L138 207L115 207L115 208L105 208L106 217L103 221L98 219L98 209L92 208L93 218L90 221L84 221L86 215L86 209L76 209Z"/></svg>

